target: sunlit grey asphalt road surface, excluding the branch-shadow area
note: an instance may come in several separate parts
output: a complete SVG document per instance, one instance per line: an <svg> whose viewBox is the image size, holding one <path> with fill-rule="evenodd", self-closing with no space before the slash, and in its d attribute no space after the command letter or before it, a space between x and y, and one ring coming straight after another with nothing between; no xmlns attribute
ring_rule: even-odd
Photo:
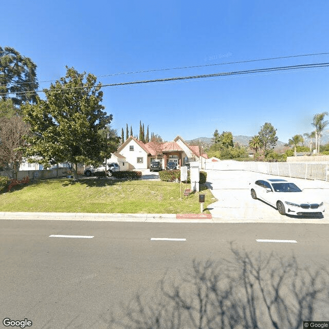
<svg viewBox="0 0 329 329"><path fill-rule="evenodd" d="M109 328L111 311L120 320L121 303L152 294L165 273L191 271L193 259L230 259L230 242L251 254L295 254L314 267L328 265L328 233L321 224L2 220L0 318L27 318L38 329Z"/></svg>

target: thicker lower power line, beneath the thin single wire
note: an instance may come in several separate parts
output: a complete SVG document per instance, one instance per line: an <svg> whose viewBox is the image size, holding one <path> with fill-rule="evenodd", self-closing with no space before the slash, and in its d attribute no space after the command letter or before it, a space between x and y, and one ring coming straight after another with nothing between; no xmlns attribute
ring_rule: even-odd
<svg viewBox="0 0 329 329"><path fill-rule="evenodd" d="M65 90L78 90L78 89L93 88L93 87L112 87L112 86L123 86L123 85L132 85L132 84L153 83L153 82L177 81L177 80L188 80L188 79L202 79L202 78L210 78L210 77L244 75L244 74L254 74L254 73L272 72L272 71L296 70L296 69L303 69L303 68L327 67L327 66L329 66L329 63L313 63L313 64L301 64L301 65L269 67L269 68L257 68L257 69L252 69L252 70L220 72L220 73L214 73L214 74L204 74L204 75L187 76L187 77L173 77L173 78L163 78L163 79L140 80L140 81L131 81L131 82L88 85L88 86L81 86L81 87L69 87L69 88L53 88L53 89L48 89L48 92L63 92ZM43 93L43 90L35 90L35 93ZM9 95L9 94L24 95L26 93L25 92L22 92L22 93L2 93L2 94L0 94L0 96Z"/></svg>

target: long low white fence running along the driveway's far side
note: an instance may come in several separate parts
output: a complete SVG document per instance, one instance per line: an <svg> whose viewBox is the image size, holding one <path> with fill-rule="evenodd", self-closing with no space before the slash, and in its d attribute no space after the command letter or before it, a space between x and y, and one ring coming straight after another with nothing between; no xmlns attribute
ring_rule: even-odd
<svg viewBox="0 0 329 329"><path fill-rule="evenodd" d="M263 174L320 179L329 181L329 161L326 162L253 162L223 160L206 163L205 169L246 170Z"/></svg>

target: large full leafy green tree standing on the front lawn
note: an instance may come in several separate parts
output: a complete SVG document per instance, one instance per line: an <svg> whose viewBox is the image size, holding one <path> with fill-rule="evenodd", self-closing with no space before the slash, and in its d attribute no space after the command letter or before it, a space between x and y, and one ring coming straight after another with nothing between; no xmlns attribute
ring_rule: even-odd
<svg viewBox="0 0 329 329"><path fill-rule="evenodd" d="M42 162L56 159L75 164L77 180L78 162L103 162L104 139L99 131L111 123L112 115L103 111L101 84L96 85L94 75L79 74L73 67L66 70L65 77L43 90L46 100L38 97L35 105L22 106L33 133L27 139L26 155L42 157Z"/></svg>

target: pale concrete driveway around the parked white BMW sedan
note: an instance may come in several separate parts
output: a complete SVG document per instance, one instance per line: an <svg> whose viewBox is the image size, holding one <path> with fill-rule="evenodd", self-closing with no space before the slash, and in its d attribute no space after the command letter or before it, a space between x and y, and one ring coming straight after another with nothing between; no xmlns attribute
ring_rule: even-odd
<svg viewBox="0 0 329 329"><path fill-rule="evenodd" d="M268 174L261 174L239 170L206 170L207 186L212 194L218 199L217 202L208 206L210 213L214 217L221 218L244 218L245 220L269 219L273 222L278 220L285 222L286 218L296 218L295 216L282 216L278 210L261 200L254 200L250 195L249 182L257 179L275 178ZM310 190L322 198L325 208L329 210L329 182L320 180L305 180L299 178L289 178L300 188ZM319 218L313 216L314 218ZM328 215L324 214L324 218Z"/></svg>

